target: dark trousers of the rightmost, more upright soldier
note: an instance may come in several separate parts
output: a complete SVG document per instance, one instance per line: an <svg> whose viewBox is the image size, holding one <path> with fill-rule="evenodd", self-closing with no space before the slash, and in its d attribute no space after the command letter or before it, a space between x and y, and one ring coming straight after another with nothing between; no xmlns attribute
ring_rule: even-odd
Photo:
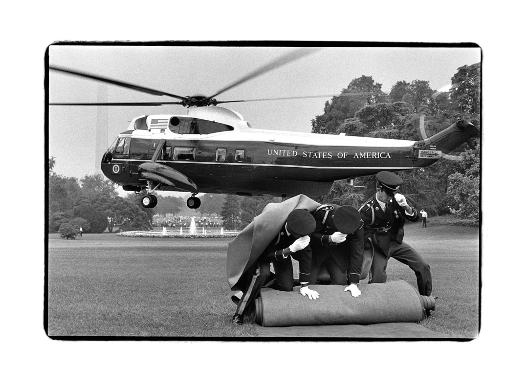
<svg viewBox="0 0 528 387"><path fill-rule="evenodd" d="M391 241L389 254L383 252L378 246L374 246L374 256L370 268L369 284L380 284L387 280L387 263L392 257L397 261L409 266L416 275L418 292L422 296L430 296L432 291L432 278L429 264L423 260L420 254L407 243Z"/></svg>

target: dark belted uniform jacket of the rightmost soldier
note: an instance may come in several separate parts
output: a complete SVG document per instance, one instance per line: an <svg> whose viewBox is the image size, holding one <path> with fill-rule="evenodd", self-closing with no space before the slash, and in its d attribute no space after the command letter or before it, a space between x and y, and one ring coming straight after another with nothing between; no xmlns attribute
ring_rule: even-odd
<svg viewBox="0 0 528 387"><path fill-rule="evenodd" d="M392 199L387 212L384 212L376 196L360 207L361 219L364 222L363 239L365 247L369 246L368 239L371 237L372 243L379 246L385 253L389 253L390 242L400 243L403 241L403 224L406 219L411 222L420 220L419 212L411 207L412 214L408 215L403 207Z"/></svg>

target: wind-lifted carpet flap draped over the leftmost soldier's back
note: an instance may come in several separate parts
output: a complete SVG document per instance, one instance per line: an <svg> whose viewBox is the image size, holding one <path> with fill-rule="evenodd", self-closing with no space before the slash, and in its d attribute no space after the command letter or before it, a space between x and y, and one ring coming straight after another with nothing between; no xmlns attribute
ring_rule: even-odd
<svg viewBox="0 0 528 387"><path fill-rule="evenodd" d="M248 270L278 237L291 211L314 212L320 204L305 195L297 195L282 203L269 203L262 213L228 245L227 276L231 290L244 290ZM291 244L291 243L290 243Z"/></svg>

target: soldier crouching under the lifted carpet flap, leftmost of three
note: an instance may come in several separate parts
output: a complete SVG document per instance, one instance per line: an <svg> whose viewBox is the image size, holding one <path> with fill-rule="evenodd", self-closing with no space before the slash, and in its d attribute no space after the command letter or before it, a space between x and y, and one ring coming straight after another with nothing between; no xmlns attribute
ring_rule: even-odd
<svg viewBox="0 0 528 387"><path fill-rule="evenodd" d="M310 300L319 298L319 293L308 288L312 250L310 234L315 230L315 219L307 210L296 209L289 213L286 223L260 254L253 267L246 271L248 277L244 283L249 284L238 301L237 310L231 319L233 324L243 324L244 315L251 314L253 301L260 294L270 275L270 263L275 269L276 283L274 288L281 291L292 291L294 271L291 258L299 261L300 294ZM252 276L251 278L249 278Z"/></svg>

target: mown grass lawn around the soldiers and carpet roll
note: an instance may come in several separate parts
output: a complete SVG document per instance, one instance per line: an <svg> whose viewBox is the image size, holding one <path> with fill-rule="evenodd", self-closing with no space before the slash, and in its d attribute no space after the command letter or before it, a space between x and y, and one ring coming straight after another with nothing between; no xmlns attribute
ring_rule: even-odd
<svg viewBox="0 0 528 387"><path fill-rule="evenodd" d="M406 225L405 240L430 263L434 318L423 325L454 337L478 334L479 261L476 228ZM230 239L49 235L50 336L251 337L234 326L225 273ZM414 273L391 259L388 281L416 287Z"/></svg>

